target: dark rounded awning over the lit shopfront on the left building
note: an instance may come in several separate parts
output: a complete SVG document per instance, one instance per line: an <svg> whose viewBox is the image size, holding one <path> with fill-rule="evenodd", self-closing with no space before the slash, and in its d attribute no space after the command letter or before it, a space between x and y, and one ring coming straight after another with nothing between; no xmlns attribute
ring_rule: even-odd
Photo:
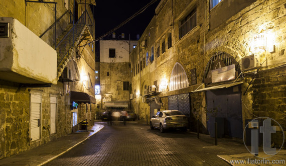
<svg viewBox="0 0 286 166"><path fill-rule="evenodd" d="M71 91L70 95L71 95L70 102L96 104L95 98L84 92Z"/></svg>

